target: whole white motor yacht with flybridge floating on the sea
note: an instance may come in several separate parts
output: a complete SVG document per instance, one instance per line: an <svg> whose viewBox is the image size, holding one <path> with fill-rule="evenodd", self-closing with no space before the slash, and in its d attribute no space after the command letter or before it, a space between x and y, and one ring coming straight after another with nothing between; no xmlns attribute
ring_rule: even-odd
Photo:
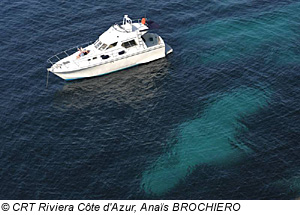
<svg viewBox="0 0 300 215"><path fill-rule="evenodd" d="M128 15L95 42L78 45L48 59L48 71L64 80L75 80L116 72L165 57L172 48L157 34L148 32L158 25Z"/></svg>

